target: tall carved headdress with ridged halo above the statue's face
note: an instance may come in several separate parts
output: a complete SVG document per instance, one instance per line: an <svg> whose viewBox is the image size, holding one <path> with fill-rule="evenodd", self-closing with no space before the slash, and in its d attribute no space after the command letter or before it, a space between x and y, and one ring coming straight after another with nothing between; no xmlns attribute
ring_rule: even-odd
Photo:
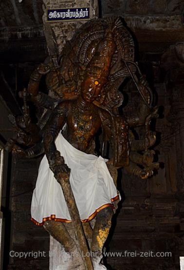
<svg viewBox="0 0 184 270"><path fill-rule="evenodd" d="M122 104L118 91L129 76L124 60L134 60L134 42L119 17L94 19L82 25L73 39L68 41L60 56L58 72L47 75L47 86L60 97L73 99L79 95L79 81L89 77L102 77L107 82L99 103L109 110ZM131 70L131 65L129 66Z"/></svg>

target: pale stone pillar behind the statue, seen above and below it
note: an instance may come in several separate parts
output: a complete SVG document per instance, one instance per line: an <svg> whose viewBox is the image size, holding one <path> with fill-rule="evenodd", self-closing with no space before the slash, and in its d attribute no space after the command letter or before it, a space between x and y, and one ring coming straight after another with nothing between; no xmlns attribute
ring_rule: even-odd
<svg viewBox="0 0 184 270"><path fill-rule="evenodd" d="M51 39L55 39L58 53L61 53L66 41L72 39L76 30L86 21L46 22L46 9L89 7L91 19L98 18L98 0L43 0L43 2L43 23L45 26L47 46L49 47L49 43L53 42ZM54 33L54 35L51 35L51 33ZM64 248L59 242L50 236L50 270L69 270L70 261L71 256L64 251Z"/></svg>

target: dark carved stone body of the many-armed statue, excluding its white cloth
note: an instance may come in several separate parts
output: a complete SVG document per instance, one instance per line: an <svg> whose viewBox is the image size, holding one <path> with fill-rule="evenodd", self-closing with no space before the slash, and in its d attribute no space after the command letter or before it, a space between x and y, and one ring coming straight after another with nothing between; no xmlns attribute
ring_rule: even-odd
<svg viewBox="0 0 184 270"><path fill-rule="evenodd" d="M39 92L43 75L46 75L49 95ZM119 88L127 77L133 79L140 93L139 112L131 115L120 114L118 109L123 103ZM74 148L94 154L95 136L102 129L100 151L102 156L106 155L107 144L110 145L107 166L115 185L117 168L124 167L143 179L159 168L159 164L153 162L154 151L149 150L156 140L150 121L157 117L157 108L153 106L152 91L134 62L134 43L121 19L95 19L84 24L66 43L59 58L53 56L38 66L31 76L26 95L47 110L38 121L37 139L35 132L29 132L35 138L29 139L34 146L23 150L20 144L32 145L19 139L19 146L13 146L14 153L30 158L45 152L72 218L72 225L48 220L44 228L66 251L78 252L79 264L84 269L90 270L93 266L94 269L106 269L99 262L111 226L112 209L108 207L98 212L93 228L89 222L80 222L69 181L71 169L65 164L62 153L57 151L55 139L65 126L63 135ZM18 120L15 124L20 126ZM132 129L139 126L145 126L145 135L135 139ZM22 133L25 130L21 133L23 137L28 135L26 129L27 126L22 129ZM19 130L17 133L20 137ZM76 236L77 244L70 233ZM81 256L89 251L88 247L95 254L92 261L90 257Z"/></svg>

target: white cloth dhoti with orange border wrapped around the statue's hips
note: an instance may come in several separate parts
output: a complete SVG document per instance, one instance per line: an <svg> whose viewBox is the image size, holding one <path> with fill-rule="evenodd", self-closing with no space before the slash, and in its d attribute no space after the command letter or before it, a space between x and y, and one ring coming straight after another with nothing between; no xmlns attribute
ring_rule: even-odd
<svg viewBox="0 0 184 270"><path fill-rule="evenodd" d="M97 212L112 206L112 202L119 198L105 159L77 150L61 133L55 145L71 169L70 184L80 218L83 222L90 221ZM46 155L39 165L31 216L36 225L43 225L44 221L51 219L71 222L63 191L49 168Z"/></svg>

